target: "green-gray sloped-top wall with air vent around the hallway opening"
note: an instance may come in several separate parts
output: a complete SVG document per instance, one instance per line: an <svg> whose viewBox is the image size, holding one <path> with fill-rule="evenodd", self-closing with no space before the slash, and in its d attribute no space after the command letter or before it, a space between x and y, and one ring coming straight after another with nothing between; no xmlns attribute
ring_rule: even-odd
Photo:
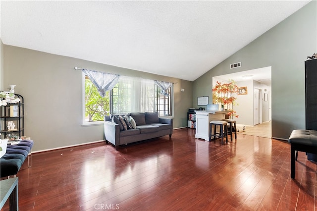
<svg viewBox="0 0 317 211"><path fill-rule="evenodd" d="M212 102L213 76L271 66L272 137L288 139L293 129L305 128L304 62L316 52L317 1L311 1L195 80L193 105L199 96ZM230 69L239 61L242 67Z"/></svg>

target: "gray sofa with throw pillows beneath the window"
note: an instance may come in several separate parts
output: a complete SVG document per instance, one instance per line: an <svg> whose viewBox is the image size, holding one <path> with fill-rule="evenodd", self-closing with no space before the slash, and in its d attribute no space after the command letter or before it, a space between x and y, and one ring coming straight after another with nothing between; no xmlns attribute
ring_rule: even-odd
<svg viewBox="0 0 317 211"><path fill-rule="evenodd" d="M158 112L138 112L105 116L106 143L118 146L173 133L173 119L159 117Z"/></svg>

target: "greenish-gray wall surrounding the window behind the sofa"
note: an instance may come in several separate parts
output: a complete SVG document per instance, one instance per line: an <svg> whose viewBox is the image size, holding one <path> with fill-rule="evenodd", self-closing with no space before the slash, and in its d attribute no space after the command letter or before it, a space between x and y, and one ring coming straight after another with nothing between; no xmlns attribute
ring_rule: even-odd
<svg viewBox="0 0 317 211"><path fill-rule="evenodd" d="M74 67L174 83L174 128L187 126L191 81L3 45L3 84L25 99L25 135L34 151L104 139L103 125L82 126L82 72ZM181 88L185 92L181 92Z"/></svg>

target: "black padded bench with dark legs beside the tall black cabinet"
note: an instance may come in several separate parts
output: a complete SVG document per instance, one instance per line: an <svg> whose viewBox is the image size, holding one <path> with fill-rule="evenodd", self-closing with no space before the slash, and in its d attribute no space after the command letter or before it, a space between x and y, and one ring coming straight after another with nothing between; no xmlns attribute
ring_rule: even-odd
<svg viewBox="0 0 317 211"><path fill-rule="evenodd" d="M317 154L317 131L293 130L288 142L291 144L291 177L294 179L298 151Z"/></svg>

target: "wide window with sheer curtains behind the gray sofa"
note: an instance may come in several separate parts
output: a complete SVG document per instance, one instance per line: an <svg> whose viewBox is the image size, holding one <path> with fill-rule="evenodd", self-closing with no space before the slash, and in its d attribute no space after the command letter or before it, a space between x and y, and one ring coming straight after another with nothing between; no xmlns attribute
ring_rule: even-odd
<svg viewBox="0 0 317 211"><path fill-rule="evenodd" d="M125 114L139 111L159 111L159 116L172 115L172 87L168 96L153 80L120 76L118 83L102 98L91 80L83 74L83 123L103 121L110 113Z"/></svg>

